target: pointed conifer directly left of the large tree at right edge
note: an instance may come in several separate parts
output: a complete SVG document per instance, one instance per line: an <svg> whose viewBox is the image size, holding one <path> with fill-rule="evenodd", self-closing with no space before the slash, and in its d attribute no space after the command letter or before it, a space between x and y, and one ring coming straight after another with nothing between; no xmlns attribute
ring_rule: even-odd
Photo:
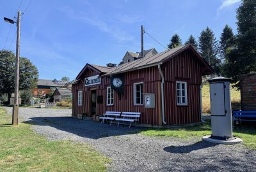
<svg viewBox="0 0 256 172"><path fill-rule="evenodd" d="M220 57L221 60L225 61L227 59L227 51L233 48L235 44L235 36L232 28L225 25L223 32L220 36Z"/></svg>

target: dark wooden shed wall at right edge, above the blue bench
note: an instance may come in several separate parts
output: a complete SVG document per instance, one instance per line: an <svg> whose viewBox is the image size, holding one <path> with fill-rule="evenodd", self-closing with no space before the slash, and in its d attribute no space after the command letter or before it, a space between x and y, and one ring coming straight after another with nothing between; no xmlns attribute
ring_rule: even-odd
<svg viewBox="0 0 256 172"><path fill-rule="evenodd" d="M256 110L256 74L241 76L240 82L242 110Z"/></svg>

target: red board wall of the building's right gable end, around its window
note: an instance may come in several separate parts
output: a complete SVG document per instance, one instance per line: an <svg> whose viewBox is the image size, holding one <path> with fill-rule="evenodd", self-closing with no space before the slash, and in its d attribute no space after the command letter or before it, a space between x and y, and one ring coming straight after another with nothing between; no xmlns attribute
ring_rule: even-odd
<svg viewBox="0 0 256 172"><path fill-rule="evenodd" d="M201 66L189 51L164 64L164 113L167 124L200 122ZM177 105L176 82L187 82L188 105Z"/></svg>

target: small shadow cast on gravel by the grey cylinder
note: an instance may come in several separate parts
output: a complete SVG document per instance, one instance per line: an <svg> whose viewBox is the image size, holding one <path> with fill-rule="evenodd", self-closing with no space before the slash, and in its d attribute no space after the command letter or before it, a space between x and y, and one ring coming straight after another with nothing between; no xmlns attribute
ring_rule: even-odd
<svg viewBox="0 0 256 172"><path fill-rule="evenodd" d="M193 145L185 145L185 146L170 146L170 147L165 147L164 151L170 152L173 154L188 154L194 150L200 150L204 148L209 148L209 147L215 147L216 145L219 145L218 143L210 143L207 141L198 141L194 143Z"/></svg>

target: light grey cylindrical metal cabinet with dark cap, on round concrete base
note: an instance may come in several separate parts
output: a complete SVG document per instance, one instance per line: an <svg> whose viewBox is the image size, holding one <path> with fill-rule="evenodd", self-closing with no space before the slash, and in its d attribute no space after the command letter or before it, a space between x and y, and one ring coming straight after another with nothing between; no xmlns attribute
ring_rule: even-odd
<svg viewBox="0 0 256 172"><path fill-rule="evenodd" d="M232 140L230 79L220 76L208 81L211 98L211 138Z"/></svg>

